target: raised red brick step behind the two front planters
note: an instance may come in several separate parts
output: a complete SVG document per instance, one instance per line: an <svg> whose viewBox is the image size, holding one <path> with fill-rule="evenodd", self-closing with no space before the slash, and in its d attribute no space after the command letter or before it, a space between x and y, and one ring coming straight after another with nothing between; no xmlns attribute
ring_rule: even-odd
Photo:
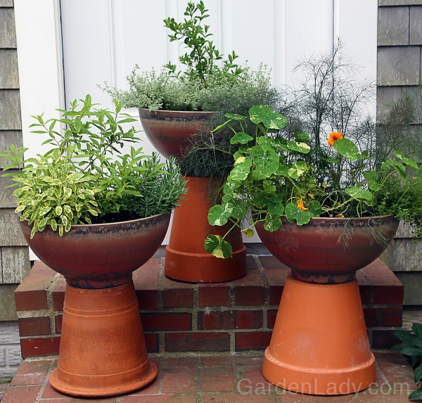
<svg viewBox="0 0 422 403"><path fill-rule="evenodd" d="M229 283L190 284L164 276L164 258L134 271L149 352L244 352L269 345L289 269L271 255L248 255L248 274ZM357 273L371 347L396 343L403 286L381 260ZM24 358L58 354L65 279L36 262L15 291Z"/></svg>

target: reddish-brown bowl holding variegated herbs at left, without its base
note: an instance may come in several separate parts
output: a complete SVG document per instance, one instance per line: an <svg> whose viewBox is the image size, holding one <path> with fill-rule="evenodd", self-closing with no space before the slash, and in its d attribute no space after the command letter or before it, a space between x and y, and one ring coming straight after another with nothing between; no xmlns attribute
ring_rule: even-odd
<svg viewBox="0 0 422 403"><path fill-rule="evenodd" d="M63 236L47 226L32 239L27 222L21 222L21 228L39 259L63 274L68 284L107 288L132 280L132 271L160 247L169 222L170 214L163 214L112 224L74 225Z"/></svg>

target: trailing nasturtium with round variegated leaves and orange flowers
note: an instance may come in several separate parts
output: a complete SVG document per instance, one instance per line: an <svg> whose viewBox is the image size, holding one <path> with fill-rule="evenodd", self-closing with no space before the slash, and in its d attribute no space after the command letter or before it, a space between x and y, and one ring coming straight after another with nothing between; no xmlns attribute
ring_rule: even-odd
<svg viewBox="0 0 422 403"><path fill-rule="evenodd" d="M353 141L333 132L326 144L329 156L318 160L315 155L320 153L314 153L316 146L310 143L309 135L289 132L286 117L269 106L253 106L248 117L226 117L228 120L217 129L228 126L234 133L231 143L238 148L222 187L221 203L210 209L211 225L229 223L252 236L257 222L267 231L277 231L283 217L299 226L313 217L368 217L382 212L378 205L383 206L383 198L388 197L392 179L404 184L413 181L416 188L422 187L422 175L407 172L418 171L418 164L401 152L395 152L378 170L364 169L368 152L359 151ZM246 124L255 125L255 136L245 134ZM403 196L408 191L402 188ZM398 200L407 203L407 198ZM409 212L402 207L397 210ZM411 217L419 228L418 236L422 236L421 218L415 221L415 215ZM217 257L230 257L226 235L207 236L205 250Z"/></svg>

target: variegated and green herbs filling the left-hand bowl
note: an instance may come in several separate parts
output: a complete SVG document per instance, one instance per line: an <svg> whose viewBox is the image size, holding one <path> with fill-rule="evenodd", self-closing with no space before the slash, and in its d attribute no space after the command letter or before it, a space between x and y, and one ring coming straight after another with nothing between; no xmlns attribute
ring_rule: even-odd
<svg viewBox="0 0 422 403"><path fill-rule="evenodd" d="M32 224L31 237L47 225L60 236L72 224L91 224L134 219L170 212L184 193L184 179L174 160L162 163L157 155L148 156L134 143L134 127L129 115L114 110L97 109L91 96L70 103L69 110L59 110L59 119L44 120L34 116L33 132L47 134L44 144L51 147L44 155L28 158L17 173L6 173L19 186L17 197L20 220ZM63 134L57 127L65 124ZM1 157L11 160L4 171L20 167L27 148L11 146ZM157 191L157 186L161 190Z"/></svg>

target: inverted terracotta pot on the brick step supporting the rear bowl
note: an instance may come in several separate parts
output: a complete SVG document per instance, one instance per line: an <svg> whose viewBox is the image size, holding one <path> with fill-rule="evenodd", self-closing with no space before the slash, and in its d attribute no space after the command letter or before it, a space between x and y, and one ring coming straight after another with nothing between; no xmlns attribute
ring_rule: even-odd
<svg viewBox="0 0 422 403"><path fill-rule="evenodd" d="M224 236L229 226L210 226L208 211L214 204L207 196L210 178L188 179L188 193L174 210L170 241L165 248L165 275L190 283L218 283L239 279L246 274L246 248L240 230L226 241L231 243L231 259L219 259L207 253L205 238L209 234Z"/></svg>

